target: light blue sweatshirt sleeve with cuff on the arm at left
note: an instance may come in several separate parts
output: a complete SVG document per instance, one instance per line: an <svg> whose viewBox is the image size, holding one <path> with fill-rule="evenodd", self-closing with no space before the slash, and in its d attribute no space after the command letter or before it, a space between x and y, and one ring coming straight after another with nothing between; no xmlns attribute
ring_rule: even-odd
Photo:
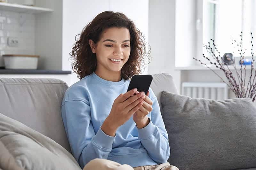
<svg viewBox="0 0 256 170"><path fill-rule="evenodd" d="M101 127L95 134L88 101L65 101L61 115L72 154L81 168L92 159L108 158L115 137L105 134Z"/></svg>

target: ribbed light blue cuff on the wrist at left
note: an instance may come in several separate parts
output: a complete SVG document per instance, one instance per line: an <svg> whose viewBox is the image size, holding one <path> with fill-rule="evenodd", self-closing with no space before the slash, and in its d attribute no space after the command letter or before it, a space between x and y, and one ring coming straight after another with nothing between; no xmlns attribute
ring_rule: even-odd
<svg viewBox="0 0 256 170"><path fill-rule="evenodd" d="M112 144L115 138L116 138L116 135L109 136L106 133L104 133L104 131L102 131L100 127L96 135L92 137L92 142L94 145L96 145L99 148L109 150L109 149L112 149Z"/></svg>

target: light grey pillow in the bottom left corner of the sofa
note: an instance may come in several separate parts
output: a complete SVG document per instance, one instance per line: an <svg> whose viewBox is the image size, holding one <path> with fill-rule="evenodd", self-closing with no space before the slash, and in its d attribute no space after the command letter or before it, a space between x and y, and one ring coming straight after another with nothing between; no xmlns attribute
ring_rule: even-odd
<svg viewBox="0 0 256 170"><path fill-rule="evenodd" d="M26 170L81 170L75 158L51 138L0 113L0 166ZM4 151L4 152L2 152ZM7 159L8 157L8 159ZM14 159L14 160L13 160Z"/></svg>

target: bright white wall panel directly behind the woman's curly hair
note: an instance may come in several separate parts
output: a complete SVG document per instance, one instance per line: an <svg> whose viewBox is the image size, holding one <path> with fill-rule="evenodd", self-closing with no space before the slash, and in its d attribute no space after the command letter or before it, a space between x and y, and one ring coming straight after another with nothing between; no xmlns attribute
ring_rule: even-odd
<svg viewBox="0 0 256 170"><path fill-rule="evenodd" d="M99 5L100 4L100 5ZM134 5L136 4L136 5ZM140 31L148 39L148 0L132 0L124 5L124 1L117 0L63 0L63 32L62 32L62 69L71 70L69 53L75 43L75 36L80 34L85 25L92 21L100 12L123 12L131 18ZM76 17L74 17L76 16ZM72 73L71 84L79 81Z"/></svg>

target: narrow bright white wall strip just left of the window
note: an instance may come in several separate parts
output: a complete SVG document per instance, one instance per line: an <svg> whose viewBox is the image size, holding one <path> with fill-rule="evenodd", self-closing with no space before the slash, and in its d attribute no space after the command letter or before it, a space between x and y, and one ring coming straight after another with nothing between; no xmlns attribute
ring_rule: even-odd
<svg viewBox="0 0 256 170"><path fill-rule="evenodd" d="M175 66L191 66L196 57L196 0L177 0L174 7Z"/></svg>

